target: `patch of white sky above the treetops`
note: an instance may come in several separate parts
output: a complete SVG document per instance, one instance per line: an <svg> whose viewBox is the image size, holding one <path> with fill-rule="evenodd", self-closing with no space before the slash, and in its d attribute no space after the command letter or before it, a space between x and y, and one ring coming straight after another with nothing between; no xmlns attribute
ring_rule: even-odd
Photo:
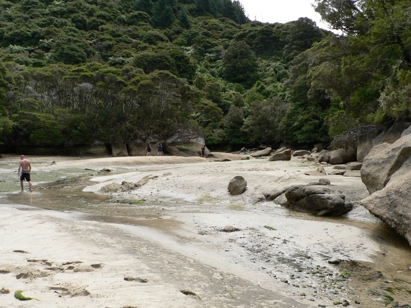
<svg viewBox="0 0 411 308"><path fill-rule="evenodd" d="M250 20L263 23L288 23L300 17L308 17L318 27L329 30L314 11L311 0L239 0Z"/></svg>

